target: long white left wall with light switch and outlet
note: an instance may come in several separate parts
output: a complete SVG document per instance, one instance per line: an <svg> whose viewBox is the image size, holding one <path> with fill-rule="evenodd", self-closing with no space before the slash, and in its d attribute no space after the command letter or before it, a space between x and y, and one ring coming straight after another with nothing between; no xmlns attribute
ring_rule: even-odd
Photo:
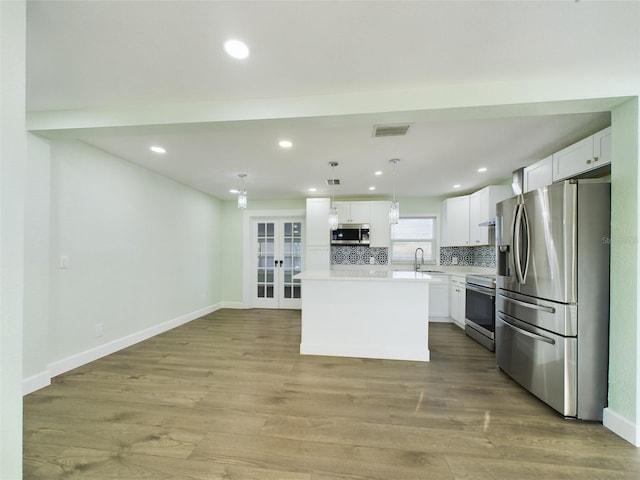
<svg viewBox="0 0 640 480"><path fill-rule="evenodd" d="M52 142L49 373L217 309L220 221L208 195L84 143Z"/></svg>

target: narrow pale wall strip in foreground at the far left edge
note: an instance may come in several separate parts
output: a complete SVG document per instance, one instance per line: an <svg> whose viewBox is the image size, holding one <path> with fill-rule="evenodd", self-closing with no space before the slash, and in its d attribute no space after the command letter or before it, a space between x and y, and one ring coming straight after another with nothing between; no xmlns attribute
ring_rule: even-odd
<svg viewBox="0 0 640 480"><path fill-rule="evenodd" d="M0 478L22 478L25 134L23 1L0 1Z"/></svg>

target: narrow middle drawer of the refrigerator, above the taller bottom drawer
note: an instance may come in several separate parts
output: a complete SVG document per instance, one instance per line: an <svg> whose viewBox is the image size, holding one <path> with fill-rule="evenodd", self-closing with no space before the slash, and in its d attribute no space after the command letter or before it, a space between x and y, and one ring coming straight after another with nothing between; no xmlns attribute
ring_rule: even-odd
<svg viewBox="0 0 640 480"><path fill-rule="evenodd" d="M498 290L496 310L565 337L578 334L578 309L575 305Z"/></svg>

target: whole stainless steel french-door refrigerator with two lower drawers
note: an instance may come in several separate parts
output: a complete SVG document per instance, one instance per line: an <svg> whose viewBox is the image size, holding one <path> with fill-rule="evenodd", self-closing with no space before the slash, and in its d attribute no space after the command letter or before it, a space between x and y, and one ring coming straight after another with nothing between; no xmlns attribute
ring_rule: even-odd
<svg viewBox="0 0 640 480"><path fill-rule="evenodd" d="M610 187L570 180L496 207L498 366L583 420L607 404Z"/></svg>

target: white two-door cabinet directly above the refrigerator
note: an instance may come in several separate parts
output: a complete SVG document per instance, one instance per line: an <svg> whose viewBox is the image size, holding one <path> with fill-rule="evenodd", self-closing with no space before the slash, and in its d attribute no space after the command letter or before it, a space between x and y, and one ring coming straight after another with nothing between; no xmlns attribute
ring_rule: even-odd
<svg viewBox="0 0 640 480"><path fill-rule="evenodd" d="M552 155L553 181L576 177L611 163L611 127Z"/></svg>

